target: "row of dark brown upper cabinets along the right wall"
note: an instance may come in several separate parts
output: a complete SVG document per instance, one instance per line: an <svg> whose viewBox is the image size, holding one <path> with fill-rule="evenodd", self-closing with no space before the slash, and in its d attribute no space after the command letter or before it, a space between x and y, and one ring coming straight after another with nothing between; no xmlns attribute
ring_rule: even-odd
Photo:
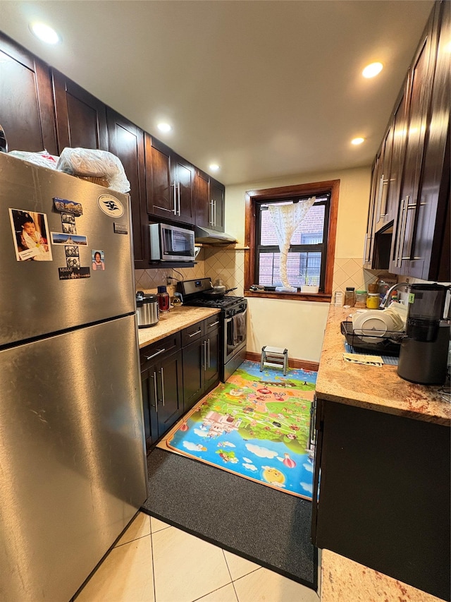
<svg viewBox="0 0 451 602"><path fill-rule="evenodd" d="M451 279L449 37L436 1L373 164L364 267Z"/></svg>

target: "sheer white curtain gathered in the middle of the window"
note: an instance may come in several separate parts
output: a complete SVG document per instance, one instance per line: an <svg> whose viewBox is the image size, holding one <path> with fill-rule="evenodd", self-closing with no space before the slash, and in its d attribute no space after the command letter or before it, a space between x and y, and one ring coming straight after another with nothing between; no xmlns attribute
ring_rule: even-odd
<svg viewBox="0 0 451 602"><path fill-rule="evenodd" d="M276 229L280 250L280 280L282 281L282 287L277 287L277 291L297 291L297 287L292 287L290 282L288 282L288 250L290 249L292 235L295 234L295 231L302 224L302 220L315 200L316 196L311 196L306 200L299 200L298 203L291 203L290 205L281 205L280 203L268 205L268 210Z"/></svg>

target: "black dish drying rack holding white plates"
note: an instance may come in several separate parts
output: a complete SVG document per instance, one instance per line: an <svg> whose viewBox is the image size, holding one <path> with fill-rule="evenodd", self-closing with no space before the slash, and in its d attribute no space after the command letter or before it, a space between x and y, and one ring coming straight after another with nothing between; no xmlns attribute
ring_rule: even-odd
<svg viewBox="0 0 451 602"><path fill-rule="evenodd" d="M398 330L354 330L352 321L344 320L340 324L342 335L345 335L347 344L357 353L371 351L379 355L399 356L401 341L406 336L405 332Z"/></svg>

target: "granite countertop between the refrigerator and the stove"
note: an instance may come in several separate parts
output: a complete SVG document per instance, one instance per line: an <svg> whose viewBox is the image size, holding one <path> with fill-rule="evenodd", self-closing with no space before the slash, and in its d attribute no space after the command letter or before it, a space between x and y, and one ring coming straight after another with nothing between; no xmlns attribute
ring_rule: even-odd
<svg viewBox="0 0 451 602"><path fill-rule="evenodd" d="M196 322L210 318L220 311L216 308L181 306L172 308L168 313L160 313L160 320L154 326L138 328L140 349Z"/></svg>

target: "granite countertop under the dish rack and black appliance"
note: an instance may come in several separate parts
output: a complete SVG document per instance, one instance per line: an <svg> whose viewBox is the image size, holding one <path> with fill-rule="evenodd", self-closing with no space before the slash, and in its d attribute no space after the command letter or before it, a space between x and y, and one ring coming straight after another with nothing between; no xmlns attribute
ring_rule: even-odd
<svg viewBox="0 0 451 602"><path fill-rule="evenodd" d="M340 322L354 309L330 306L316 379L316 396L387 414L450 426L451 403L440 387L415 385L397 375L397 366L364 366L343 360Z"/></svg>

